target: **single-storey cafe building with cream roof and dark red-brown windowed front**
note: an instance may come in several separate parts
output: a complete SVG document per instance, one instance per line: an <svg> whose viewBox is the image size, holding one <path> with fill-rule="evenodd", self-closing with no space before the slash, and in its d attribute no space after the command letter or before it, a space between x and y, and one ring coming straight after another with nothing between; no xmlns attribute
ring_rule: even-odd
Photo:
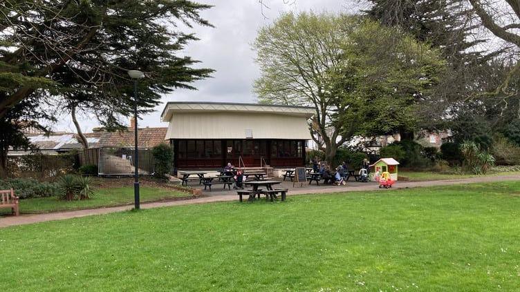
<svg viewBox="0 0 520 292"><path fill-rule="evenodd" d="M176 169L305 166L310 138L304 106L169 102L161 119Z"/></svg>

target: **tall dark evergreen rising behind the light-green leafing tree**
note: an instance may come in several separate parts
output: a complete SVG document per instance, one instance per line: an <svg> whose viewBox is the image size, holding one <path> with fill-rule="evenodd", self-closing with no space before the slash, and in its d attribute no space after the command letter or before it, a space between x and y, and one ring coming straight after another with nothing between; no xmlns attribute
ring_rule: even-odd
<svg viewBox="0 0 520 292"><path fill-rule="evenodd" d="M402 28L419 41L437 48L446 60L447 70L438 86L418 107L417 115L425 128L445 128L456 109L465 104L481 88L475 81L488 76L488 62L502 50L481 51L485 39L475 30L480 23L473 20L467 3L455 0L370 0L366 15L384 26ZM480 49L479 49L480 48ZM484 77L484 78L483 78Z"/></svg>

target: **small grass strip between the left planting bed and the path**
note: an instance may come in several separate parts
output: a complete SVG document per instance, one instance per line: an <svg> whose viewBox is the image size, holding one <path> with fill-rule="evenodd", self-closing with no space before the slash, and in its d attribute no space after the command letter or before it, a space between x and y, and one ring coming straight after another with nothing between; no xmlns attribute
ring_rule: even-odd
<svg viewBox="0 0 520 292"><path fill-rule="evenodd" d="M176 197L189 197L188 193L171 191L165 188L153 188L142 186L140 188L140 201L149 202L160 199L172 199ZM99 208L119 206L133 203L133 186L120 188L100 188L95 191L91 199L75 200L71 202L57 199L57 197L39 197L35 199L21 199L21 213L46 213L57 211L78 210L86 208ZM1 213L10 213L10 209L0 209Z"/></svg>

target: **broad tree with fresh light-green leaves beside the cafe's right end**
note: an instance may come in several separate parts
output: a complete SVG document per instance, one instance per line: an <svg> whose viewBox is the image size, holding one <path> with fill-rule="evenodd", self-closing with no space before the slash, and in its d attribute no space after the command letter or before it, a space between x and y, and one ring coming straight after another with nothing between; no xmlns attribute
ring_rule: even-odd
<svg viewBox="0 0 520 292"><path fill-rule="evenodd" d="M353 135L413 126L409 110L442 67L398 30L342 14L285 14L254 49L260 101L315 108L310 133L329 164Z"/></svg>

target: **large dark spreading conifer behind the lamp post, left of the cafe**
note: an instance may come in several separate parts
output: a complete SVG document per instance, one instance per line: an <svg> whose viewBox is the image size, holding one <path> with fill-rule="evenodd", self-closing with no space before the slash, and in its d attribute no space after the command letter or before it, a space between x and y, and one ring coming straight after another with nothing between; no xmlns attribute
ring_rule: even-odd
<svg viewBox="0 0 520 292"><path fill-rule="evenodd" d="M31 100L94 113L106 128L122 127L133 112L128 70L142 70L139 113L174 88L212 70L178 52L192 34L178 23L210 26L199 15L210 6L192 1L17 0L0 2L0 120L16 124L13 110ZM9 142L5 142L9 144Z"/></svg>

